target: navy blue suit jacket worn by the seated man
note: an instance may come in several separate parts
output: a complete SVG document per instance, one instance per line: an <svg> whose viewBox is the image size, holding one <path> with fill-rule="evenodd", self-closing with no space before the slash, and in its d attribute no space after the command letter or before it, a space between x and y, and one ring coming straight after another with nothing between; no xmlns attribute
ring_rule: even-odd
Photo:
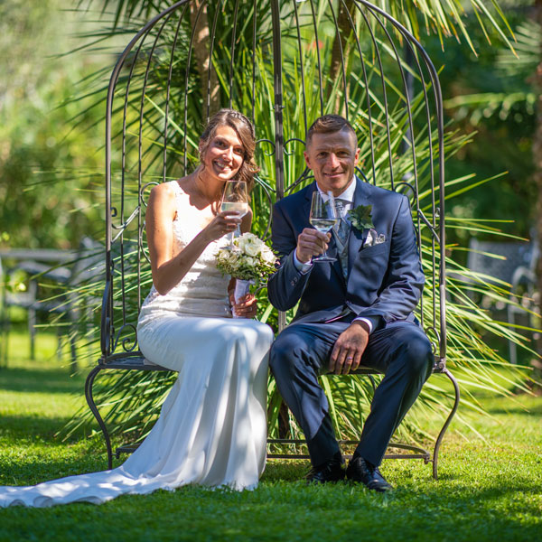
<svg viewBox="0 0 542 542"><path fill-rule="evenodd" d="M304 228L311 228L309 213L315 190L313 182L275 204L272 241L280 266L267 285L271 303L286 311L299 302L295 322L325 322L348 309L369 319L373 329L396 320L415 322L412 312L425 277L406 196L357 179L353 207L372 205L375 229L386 240L366 246L369 229L361 232L352 227L345 279L339 258L332 263L315 263L306 274L294 266L297 237ZM337 255L333 238L327 253Z"/></svg>

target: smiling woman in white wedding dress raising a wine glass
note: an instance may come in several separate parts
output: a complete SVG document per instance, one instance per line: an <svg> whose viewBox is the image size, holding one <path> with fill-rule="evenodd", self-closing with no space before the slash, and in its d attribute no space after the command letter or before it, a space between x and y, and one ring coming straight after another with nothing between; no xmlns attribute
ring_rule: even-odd
<svg viewBox="0 0 542 542"><path fill-rule="evenodd" d="M137 324L146 360L179 372L143 444L112 471L28 487L1 487L0 506L105 502L125 493L185 484L257 486L266 461L267 350L273 332L256 316L254 295L236 304L233 280L215 266L225 234L242 219L219 212L225 183L253 184L256 140L247 117L221 109L200 138L201 164L151 192L146 234L153 287ZM230 302L231 300L231 302ZM232 319L230 304L244 318Z"/></svg>

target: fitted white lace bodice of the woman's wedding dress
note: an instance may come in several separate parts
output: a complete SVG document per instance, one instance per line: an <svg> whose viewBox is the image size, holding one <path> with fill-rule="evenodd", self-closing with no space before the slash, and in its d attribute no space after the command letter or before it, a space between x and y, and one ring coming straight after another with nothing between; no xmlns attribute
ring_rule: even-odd
<svg viewBox="0 0 542 542"><path fill-rule="evenodd" d="M173 220L173 243L175 253L184 248L201 231L201 210L190 204L189 196L179 183L170 182L176 201ZM210 243L196 260L182 281L167 294L161 295L151 288L139 313L138 328L153 322L160 314L175 313L181 317L231 315L228 301L229 276L222 276L216 268L215 254L228 243L220 238Z"/></svg>

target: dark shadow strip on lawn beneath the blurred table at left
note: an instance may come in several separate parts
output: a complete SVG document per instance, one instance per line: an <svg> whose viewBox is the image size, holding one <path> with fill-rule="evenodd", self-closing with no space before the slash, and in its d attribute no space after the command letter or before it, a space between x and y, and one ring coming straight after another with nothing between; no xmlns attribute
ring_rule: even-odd
<svg viewBox="0 0 542 542"><path fill-rule="evenodd" d="M84 393L84 377L68 369L0 369L0 388L24 393Z"/></svg>

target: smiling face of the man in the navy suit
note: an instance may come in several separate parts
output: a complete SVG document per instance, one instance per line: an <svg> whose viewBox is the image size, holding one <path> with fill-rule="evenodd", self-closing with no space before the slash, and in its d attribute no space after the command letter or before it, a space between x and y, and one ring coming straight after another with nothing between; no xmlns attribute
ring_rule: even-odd
<svg viewBox="0 0 542 542"><path fill-rule="evenodd" d="M329 134L313 134L304 152L307 166L322 192L333 196L344 192L354 179L360 149L356 136L348 129Z"/></svg>

